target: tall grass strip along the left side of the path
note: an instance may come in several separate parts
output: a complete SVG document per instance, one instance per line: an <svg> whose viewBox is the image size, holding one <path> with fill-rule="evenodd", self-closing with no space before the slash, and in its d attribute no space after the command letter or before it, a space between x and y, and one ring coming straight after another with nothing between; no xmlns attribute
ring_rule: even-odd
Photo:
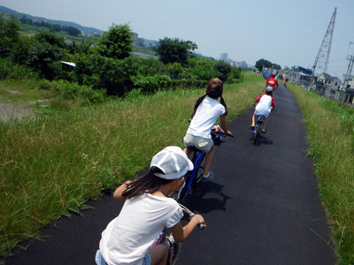
<svg viewBox="0 0 354 265"><path fill-rule="evenodd" d="M241 83L226 85L228 118L248 110L263 87L264 79L251 72ZM85 207L102 189L131 178L161 148L182 146L201 95L200 89L149 96L133 91L124 100L0 123L0 254L10 254L20 240L37 237L40 227Z"/></svg>

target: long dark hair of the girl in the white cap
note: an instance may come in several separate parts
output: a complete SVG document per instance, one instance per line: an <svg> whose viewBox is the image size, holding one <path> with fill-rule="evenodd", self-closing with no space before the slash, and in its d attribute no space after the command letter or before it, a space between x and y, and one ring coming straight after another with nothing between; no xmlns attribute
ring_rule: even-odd
<svg viewBox="0 0 354 265"><path fill-rule="evenodd" d="M164 174L158 167L151 167L149 172L141 177L135 178L122 193L125 199L131 199L142 193L155 193L161 185L171 182L171 179L159 178L156 173Z"/></svg>

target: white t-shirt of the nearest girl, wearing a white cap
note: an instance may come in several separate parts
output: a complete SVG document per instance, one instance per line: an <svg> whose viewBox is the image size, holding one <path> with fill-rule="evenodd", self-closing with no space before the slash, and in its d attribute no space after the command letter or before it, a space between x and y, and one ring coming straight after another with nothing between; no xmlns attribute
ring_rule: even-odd
<svg viewBox="0 0 354 265"><path fill-rule="evenodd" d="M176 201L144 193L125 201L119 216L108 223L99 244L109 265L142 264L142 257L165 227L181 222Z"/></svg>

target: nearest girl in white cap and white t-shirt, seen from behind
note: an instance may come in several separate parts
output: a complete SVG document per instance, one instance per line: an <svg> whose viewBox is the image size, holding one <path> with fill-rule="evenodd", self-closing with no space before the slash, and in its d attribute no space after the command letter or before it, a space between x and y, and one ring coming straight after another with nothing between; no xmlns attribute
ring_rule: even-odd
<svg viewBox="0 0 354 265"><path fill-rule="evenodd" d="M115 190L114 199L126 201L119 216L102 232L96 264L166 264L167 246L151 246L160 232L170 228L173 239L181 242L197 224L205 223L202 216L195 215L182 227L182 209L167 197L179 188L189 170L193 170L193 163L182 149L167 147L152 158L146 176Z"/></svg>

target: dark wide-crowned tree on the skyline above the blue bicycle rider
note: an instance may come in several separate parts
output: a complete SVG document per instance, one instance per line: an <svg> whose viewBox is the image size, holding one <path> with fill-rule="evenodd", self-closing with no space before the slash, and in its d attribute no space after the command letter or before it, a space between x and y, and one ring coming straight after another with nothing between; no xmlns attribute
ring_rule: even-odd
<svg viewBox="0 0 354 265"><path fill-rule="evenodd" d="M156 52L164 64L180 63L187 64L189 54L197 49L196 43L182 41L178 38L167 38L158 40Z"/></svg>

